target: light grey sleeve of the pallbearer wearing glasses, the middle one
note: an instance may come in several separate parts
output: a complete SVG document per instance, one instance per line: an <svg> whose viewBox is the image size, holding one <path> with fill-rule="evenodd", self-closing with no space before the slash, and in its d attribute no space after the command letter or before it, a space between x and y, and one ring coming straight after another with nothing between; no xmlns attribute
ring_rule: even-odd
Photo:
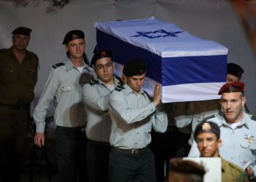
<svg viewBox="0 0 256 182"><path fill-rule="evenodd" d="M83 103L97 111L108 110L109 95L100 95L98 90L91 84L83 85Z"/></svg>

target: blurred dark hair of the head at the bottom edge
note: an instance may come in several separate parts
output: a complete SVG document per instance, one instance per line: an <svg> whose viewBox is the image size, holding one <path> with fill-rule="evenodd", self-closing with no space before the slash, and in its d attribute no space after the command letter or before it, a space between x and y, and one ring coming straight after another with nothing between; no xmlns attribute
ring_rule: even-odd
<svg viewBox="0 0 256 182"><path fill-rule="evenodd" d="M206 174L203 165L178 157L170 159L170 172L177 173L184 182L203 182L203 176Z"/></svg>

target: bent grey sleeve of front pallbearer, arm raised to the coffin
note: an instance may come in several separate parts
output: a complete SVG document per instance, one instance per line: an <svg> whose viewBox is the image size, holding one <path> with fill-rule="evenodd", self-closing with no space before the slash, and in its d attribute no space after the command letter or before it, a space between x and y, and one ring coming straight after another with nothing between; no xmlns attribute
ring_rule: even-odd
<svg viewBox="0 0 256 182"><path fill-rule="evenodd" d="M110 94L108 108L116 119L127 124L142 121L156 110L156 107L152 102L140 108L130 108L125 100L124 92L114 90Z"/></svg>

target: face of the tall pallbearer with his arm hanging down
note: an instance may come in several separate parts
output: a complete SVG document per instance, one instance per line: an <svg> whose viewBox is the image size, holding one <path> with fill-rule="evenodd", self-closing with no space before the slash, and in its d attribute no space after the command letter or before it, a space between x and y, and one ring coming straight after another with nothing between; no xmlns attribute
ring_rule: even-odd
<svg viewBox="0 0 256 182"><path fill-rule="evenodd" d="M86 41L84 41L84 39L75 39L65 44L65 49L69 51L70 59L82 59L85 48Z"/></svg>

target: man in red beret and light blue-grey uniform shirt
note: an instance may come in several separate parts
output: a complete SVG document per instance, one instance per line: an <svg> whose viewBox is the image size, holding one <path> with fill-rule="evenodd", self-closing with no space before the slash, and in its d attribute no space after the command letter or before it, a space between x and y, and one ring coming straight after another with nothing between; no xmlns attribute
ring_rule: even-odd
<svg viewBox="0 0 256 182"><path fill-rule="evenodd" d="M220 103L223 114L217 114L208 121L215 122L220 128L219 154L227 161L233 162L246 170L250 178L256 174L256 123L243 110L246 103L244 83L229 82L219 90L222 95ZM196 143L192 144L189 157L199 157Z"/></svg>

